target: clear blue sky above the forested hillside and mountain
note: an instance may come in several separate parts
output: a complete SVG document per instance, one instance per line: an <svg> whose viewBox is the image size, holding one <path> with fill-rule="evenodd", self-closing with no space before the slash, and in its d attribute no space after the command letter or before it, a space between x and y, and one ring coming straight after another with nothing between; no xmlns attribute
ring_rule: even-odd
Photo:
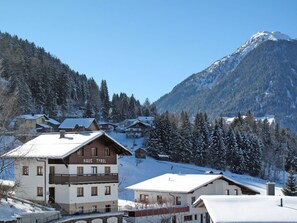
<svg viewBox="0 0 297 223"><path fill-rule="evenodd" d="M296 0L9 0L0 31L114 93L154 102L259 31L297 38Z"/></svg>

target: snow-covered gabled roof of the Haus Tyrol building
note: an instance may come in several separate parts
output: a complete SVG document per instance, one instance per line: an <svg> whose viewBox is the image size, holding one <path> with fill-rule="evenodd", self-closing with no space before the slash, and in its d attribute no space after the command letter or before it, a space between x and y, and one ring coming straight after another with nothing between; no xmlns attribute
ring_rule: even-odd
<svg viewBox="0 0 297 223"><path fill-rule="evenodd" d="M117 146L121 154L132 155L124 146L112 139L103 131L65 133L60 138L59 133L42 134L22 146L4 154L6 158L55 158L62 159L75 152L82 146L99 137L107 137Z"/></svg>

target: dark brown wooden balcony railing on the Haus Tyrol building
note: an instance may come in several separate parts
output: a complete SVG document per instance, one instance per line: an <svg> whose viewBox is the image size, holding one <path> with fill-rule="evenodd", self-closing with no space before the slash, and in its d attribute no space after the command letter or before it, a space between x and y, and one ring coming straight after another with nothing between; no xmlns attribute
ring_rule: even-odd
<svg viewBox="0 0 297 223"><path fill-rule="evenodd" d="M50 184L117 183L117 173L110 174L50 174Z"/></svg>

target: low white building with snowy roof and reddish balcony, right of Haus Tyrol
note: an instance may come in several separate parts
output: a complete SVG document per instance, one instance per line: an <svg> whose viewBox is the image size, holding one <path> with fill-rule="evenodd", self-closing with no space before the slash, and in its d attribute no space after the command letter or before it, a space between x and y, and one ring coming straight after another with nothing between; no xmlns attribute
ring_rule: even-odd
<svg viewBox="0 0 297 223"><path fill-rule="evenodd" d="M192 204L201 195L258 192L221 174L164 174L127 187L143 209L128 211L130 222L207 222L206 210ZM139 207L138 207L139 208Z"/></svg>

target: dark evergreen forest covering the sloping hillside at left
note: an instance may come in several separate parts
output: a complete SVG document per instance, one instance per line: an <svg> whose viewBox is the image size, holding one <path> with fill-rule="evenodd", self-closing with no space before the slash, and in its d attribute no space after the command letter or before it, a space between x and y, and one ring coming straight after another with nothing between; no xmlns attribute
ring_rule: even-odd
<svg viewBox="0 0 297 223"><path fill-rule="evenodd" d="M44 113L57 119L94 117L118 122L156 113L148 99L142 105L133 95L120 93L110 100L106 80L98 86L43 48L1 32L0 68L0 90L6 98L15 98L13 115ZM0 113L5 112L5 106L0 108Z"/></svg>

